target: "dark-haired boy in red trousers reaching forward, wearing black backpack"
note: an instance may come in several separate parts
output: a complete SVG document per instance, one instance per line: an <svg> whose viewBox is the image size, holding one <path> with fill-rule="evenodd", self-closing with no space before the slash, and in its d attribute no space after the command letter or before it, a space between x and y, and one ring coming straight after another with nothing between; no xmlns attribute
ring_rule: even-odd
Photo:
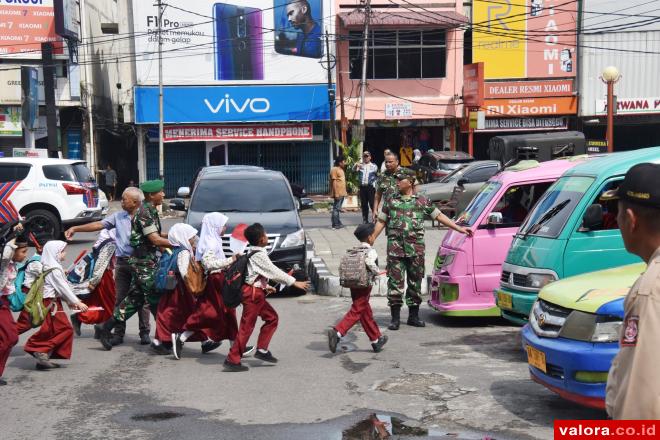
<svg viewBox="0 0 660 440"><path fill-rule="evenodd" d="M266 301L266 295L275 291L268 285L269 280L273 280L287 286L294 286L298 289L307 290L308 281L296 281L294 277L288 275L270 261L266 246L268 246L268 236L264 227L259 223L254 223L245 229L245 238L250 243L250 250L253 252L248 260L245 282L243 284L243 314L241 323L238 327L238 335L234 344L229 350L225 360L225 371L239 372L247 371L248 367L241 364L242 354L245 352L247 341L252 335L257 317L264 321L259 330L259 339L257 340L257 351L254 357L265 362L277 363L277 358L268 350L270 340L277 330L277 312Z"/></svg>

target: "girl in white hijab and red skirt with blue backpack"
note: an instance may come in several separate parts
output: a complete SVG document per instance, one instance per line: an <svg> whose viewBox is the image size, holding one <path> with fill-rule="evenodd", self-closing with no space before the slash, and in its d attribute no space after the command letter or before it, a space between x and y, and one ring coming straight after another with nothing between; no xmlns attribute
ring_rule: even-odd
<svg viewBox="0 0 660 440"><path fill-rule="evenodd" d="M177 255L177 269L180 277L177 277L176 288L164 294L158 302L156 312L156 338L152 341L152 349L157 354L169 354L169 346L172 343L172 335L183 331L183 325L195 310L195 298L188 292L183 277L188 273L190 261L195 256L193 243L197 238L197 229L185 223L177 223L167 233L167 239L173 247L173 251L179 249Z"/></svg>

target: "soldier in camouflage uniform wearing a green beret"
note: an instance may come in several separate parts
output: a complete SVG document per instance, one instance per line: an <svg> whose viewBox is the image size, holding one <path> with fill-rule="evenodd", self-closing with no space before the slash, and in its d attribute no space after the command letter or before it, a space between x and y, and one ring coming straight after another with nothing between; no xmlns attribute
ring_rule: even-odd
<svg viewBox="0 0 660 440"><path fill-rule="evenodd" d="M164 183L162 180L150 180L140 185L145 200L133 216L130 242L133 254L128 260L131 267L131 285L126 298L115 308L113 317L101 326L100 341L106 350L112 349L110 332L117 322L125 322L145 304L149 303L151 313L156 314L158 295L154 288L158 269L159 247L172 245L162 236L160 217L157 206L163 204ZM153 348L157 343L152 343Z"/></svg>

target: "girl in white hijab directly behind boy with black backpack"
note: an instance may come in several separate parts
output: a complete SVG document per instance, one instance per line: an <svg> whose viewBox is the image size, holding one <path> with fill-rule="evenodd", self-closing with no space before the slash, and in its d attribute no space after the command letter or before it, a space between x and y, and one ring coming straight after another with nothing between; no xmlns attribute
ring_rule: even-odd
<svg viewBox="0 0 660 440"><path fill-rule="evenodd" d="M219 212L210 212L202 219L196 258L209 276L206 292L198 298L195 312L188 317L183 327L185 331L172 335L172 351L176 359L181 357L183 343L193 335L197 339L201 334L208 338L202 342L202 353L208 353L218 348L224 339L233 341L238 333L236 310L225 307L220 291L224 281L222 271L236 261L236 256L225 257L222 249L227 220L227 216Z"/></svg>

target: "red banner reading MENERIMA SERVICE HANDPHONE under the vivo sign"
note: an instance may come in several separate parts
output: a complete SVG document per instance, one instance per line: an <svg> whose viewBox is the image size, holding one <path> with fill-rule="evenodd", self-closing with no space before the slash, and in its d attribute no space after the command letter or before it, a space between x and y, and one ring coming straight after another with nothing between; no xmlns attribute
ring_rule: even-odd
<svg viewBox="0 0 660 440"><path fill-rule="evenodd" d="M278 125L169 125L164 142L310 140L312 124Z"/></svg>

